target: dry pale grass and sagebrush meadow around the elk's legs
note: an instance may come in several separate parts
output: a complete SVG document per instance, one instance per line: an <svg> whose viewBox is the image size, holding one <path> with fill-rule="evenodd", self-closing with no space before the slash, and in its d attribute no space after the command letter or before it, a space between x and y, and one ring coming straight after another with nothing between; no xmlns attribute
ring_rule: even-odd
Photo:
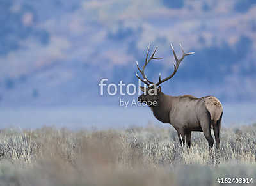
<svg viewBox="0 0 256 186"><path fill-rule="evenodd" d="M212 157L202 133L192 133L188 153L172 127L6 128L0 159L0 185L225 185L217 178L256 185L256 125L222 128Z"/></svg>

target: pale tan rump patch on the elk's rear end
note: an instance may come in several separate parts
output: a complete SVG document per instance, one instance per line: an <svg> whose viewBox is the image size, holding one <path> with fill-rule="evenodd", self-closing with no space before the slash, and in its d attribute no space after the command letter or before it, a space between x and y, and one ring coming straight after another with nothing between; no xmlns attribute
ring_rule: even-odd
<svg viewBox="0 0 256 186"><path fill-rule="evenodd" d="M207 97L205 98L205 107L210 113L211 120L216 123L223 111L221 102L216 97Z"/></svg>

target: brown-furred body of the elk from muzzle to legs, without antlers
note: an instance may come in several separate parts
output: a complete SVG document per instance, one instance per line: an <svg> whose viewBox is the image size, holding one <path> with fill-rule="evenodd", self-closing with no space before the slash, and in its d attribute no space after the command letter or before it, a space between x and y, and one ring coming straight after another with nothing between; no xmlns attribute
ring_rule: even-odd
<svg viewBox="0 0 256 186"><path fill-rule="evenodd" d="M138 100L141 102L157 101L157 105L150 109L157 120L170 123L177 130L182 146L186 142L188 148L190 147L192 131L204 132L211 151L214 143L211 135L211 128L213 128L216 148L220 148L223 110L218 98L212 96L196 98L191 95L170 96L161 92L161 87L159 87L157 95L141 95Z"/></svg>

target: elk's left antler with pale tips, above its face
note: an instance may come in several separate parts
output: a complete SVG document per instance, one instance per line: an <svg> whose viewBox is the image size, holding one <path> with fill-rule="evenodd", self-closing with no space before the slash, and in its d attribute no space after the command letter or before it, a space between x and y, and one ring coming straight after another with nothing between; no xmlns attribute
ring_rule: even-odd
<svg viewBox="0 0 256 186"><path fill-rule="evenodd" d="M136 72L136 76L137 76L138 79L140 79L142 82L144 82L145 84L147 84L147 86L149 86L150 84L154 84L154 82L149 81L149 80L147 79L147 76L145 75L145 72L144 72L146 66L148 65L148 63L149 63L152 59L156 59L156 60L163 59L163 58L155 58L155 57L154 57L154 54L156 53L157 47L156 47L156 49L154 50L154 52L152 53L151 57L148 59L148 52L149 52L149 49L150 49L150 45L148 45L148 50L147 50L147 55L146 55L146 59L145 59L145 64L144 64L142 70L141 70L140 67L139 67L138 61L136 61L136 65L137 65L138 70L140 71L140 73L141 73L143 79L137 74L137 72Z"/></svg>

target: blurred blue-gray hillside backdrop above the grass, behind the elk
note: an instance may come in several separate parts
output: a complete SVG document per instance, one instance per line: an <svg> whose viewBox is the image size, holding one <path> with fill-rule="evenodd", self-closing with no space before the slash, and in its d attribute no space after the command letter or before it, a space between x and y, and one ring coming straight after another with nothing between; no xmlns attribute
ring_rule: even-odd
<svg viewBox="0 0 256 186"><path fill-rule="evenodd" d="M147 75L173 70L170 43L188 52L162 86L170 95L214 95L225 123L255 121L256 1L0 1L2 127L157 123L148 108L124 109L99 81L138 81L148 43L157 46ZM106 88L105 88L106 90ZM121 97L132 100L134 97Z"/></svg>

